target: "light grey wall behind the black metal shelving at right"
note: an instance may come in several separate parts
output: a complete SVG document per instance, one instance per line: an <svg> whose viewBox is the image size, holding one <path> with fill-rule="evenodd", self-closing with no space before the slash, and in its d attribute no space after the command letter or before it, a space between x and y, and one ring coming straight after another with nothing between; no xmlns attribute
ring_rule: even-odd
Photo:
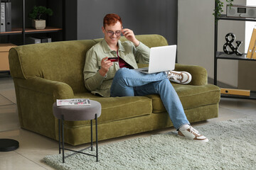
<svg viewBox="0 0 256 170"><path fill-rule="evenodd" d="M205 67L208 77L213 79L214 70L214 9L213 0L178 1L178 62ZM226 2L223 13L225 13ZM235 0L233 4L245 4L245 0ZM236 40L244 41L245 22L218 22L218 51L223 51L225 35L234 33ZM244 43L240 52L244 52ZM218 60L218 81L230 86L238 86L238 61Z"/></svg>

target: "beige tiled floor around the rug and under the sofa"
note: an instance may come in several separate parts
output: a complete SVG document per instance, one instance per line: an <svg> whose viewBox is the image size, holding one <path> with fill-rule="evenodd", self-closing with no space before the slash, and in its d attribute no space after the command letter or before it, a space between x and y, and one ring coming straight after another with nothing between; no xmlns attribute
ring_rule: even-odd
<svg viewBox="0 0 256 170"><path fill-rule="evenodd" d="M193 126L245 117L256 118L255 100L221 98L219 118L213 118L202 123L194 123ZM139 135L131 135L129 137L119 137L113 140L101 141L99 145L127 140L134 137L169 132L170 130L174 129L169 128L166 130L145 132ZM47 164L43 163L42 159L48 154L58 154L58 142L55 140L50 140L48 137L43 137L42 135L19 128L13 81L11 77L1 75L0 138L11 138L18 140L20 144L20 147L15 151L0 152L0 170L52 169Z"/></svg>

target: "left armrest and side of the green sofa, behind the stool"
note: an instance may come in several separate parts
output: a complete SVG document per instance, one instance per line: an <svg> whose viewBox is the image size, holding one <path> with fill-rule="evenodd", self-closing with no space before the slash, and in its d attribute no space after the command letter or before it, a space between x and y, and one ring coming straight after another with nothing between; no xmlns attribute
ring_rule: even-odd
<svg viewBox="0 0 256 170"><path fill-rule="evenodd" d="M58 120L53 115L56 99L74 98L68 84L40 77L14 78L21 128L58 139Z"/></svg>

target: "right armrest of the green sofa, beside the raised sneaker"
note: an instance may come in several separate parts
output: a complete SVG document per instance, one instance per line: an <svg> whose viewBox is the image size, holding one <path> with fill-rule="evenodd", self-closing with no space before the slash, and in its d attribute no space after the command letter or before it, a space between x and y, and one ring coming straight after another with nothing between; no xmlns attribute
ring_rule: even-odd
<svg viewBox="0 0 256 170"><path fill-rule="evenodd" d="M196 65L176 64L175 71L185 71L192 75L189 85L202 86L208 84L208 75L205 68Z"/></svg>

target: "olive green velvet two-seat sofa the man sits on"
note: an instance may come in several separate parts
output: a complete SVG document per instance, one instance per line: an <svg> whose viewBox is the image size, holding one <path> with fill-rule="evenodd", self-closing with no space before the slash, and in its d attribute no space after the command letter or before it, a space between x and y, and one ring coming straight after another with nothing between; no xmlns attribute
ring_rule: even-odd
<svg viewBox="0 0 256 170"><path fill-rule="evenodd" d="M168 45L161 35L137 35L149 47ZM90 98L102 105L98 139L132 135L171 127L158 95L102 98L85 89L83 67L87 50L99 42L73 40L11 48L9 64L14 79L21 128L58 140L58 120L53 103L60 98ZM121 40L124 40L122 37ZM144 67L144 64L139 64ZM208 84L206 69L176 64L176 70L192 74L190 84L173 84L191 123L218 117L220 89ZM89 121L65 121L65 142L90 142Z"/></svg>

